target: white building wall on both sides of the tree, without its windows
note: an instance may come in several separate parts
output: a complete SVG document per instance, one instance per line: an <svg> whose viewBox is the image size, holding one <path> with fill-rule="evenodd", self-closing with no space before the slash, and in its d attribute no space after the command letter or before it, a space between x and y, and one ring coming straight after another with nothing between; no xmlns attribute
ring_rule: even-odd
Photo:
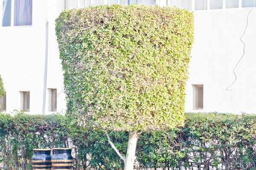
<svg viewBox="0 0 256 170"><path fill-rule="evenodd" d="M6 88L7 112L22 108L19 91L30 91L29 113L52 113L52 88L57 89L57 112L66 109L54 22L63 9L62 2L33 0L32 26L0 27L0 74ZM169 1L156 0L156 3L165 6ZM256 8L250 12L249 24L242 37L246 44L245 55L235 70L237 80L226 90L235 79L233 68L243 54L243 43L239 39L250 9L194 11L195 44L186 88L187 112L195 112L192 89L195 84L204 85L204 109L201 111L256 112L253 105L256 96Z"/></svg>

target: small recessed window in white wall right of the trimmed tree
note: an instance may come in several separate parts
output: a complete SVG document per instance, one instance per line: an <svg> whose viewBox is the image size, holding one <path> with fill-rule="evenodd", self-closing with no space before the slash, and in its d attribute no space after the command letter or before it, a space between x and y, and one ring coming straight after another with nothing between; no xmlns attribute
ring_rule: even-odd
<svg viewBox="0 0 256 170"><path fill-rule="evenodd" d="M193 105L194 110L203 110L204 108L204 85L193 85L194 99Z"/></svg>

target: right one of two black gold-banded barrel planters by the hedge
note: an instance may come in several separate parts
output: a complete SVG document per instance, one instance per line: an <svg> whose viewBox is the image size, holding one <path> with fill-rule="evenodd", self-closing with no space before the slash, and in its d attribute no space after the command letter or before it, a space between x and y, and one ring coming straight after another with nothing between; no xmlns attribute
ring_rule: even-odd
<svg viewBox="0 0 256 170"><path fill-rule="evenodd" d="M71 148L52 148L52 169L72 170Z"/></svg>

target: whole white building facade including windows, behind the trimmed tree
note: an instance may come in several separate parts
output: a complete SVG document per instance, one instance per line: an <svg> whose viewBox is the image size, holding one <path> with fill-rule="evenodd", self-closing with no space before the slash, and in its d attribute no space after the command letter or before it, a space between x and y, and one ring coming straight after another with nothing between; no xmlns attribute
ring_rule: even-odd
<svg viewBox="0 0 256 170"><path fill-rule="evenodd" d="M0 0L0 111L64 113L55 19L65 8L114 3L193 11L185 110L256 113L256 0Z"/></svg>

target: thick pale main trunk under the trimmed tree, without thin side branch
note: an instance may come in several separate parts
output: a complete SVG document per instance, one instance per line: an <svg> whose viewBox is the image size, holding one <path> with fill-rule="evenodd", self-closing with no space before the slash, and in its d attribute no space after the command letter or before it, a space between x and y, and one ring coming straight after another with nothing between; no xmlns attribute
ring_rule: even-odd
<svg viewBox="0 0 256 170"><path fill-rule="evenodd" d="M129 141L127 147L127 153L125 157L125 169L124 170L133 170L134 161L135 161L135 151L139 134L136 130L129 132Z"/></svg>

